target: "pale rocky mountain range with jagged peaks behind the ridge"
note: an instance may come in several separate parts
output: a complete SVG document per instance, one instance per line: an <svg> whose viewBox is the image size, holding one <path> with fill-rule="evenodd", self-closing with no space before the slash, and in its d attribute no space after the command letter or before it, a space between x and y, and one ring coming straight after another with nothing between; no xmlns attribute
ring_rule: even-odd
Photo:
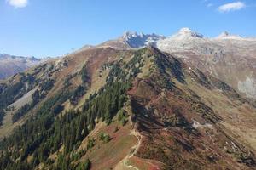
<svg viewBox="0 0 256 170"><path fill-rule="evenodd" d="M148 45L173 54L188 65L227 82L247 98L256 99L256 38L231 35L226 31L208 38L182 28L171 37L125 32L122 37L103 42L96 48L129 49Z"/></svg>

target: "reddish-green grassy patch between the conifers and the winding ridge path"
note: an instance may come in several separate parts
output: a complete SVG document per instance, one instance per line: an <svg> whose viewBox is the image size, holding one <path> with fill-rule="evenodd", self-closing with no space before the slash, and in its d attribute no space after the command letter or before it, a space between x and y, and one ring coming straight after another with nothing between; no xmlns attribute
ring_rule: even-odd
<svg viewBox="0 0 256 170"><path fill-rule="evenodd" d="M110 169L115 167L119 161L129 154L131 147L137 143L136 137L130 133L130 123L127 123L125 127L121 127L119 131L114 133L116 126L120 126L119 123L113 123L108 127L103 125L98 129L98 132L90 135L89 138L96 139L96 145L88 151L84 158L90 158L92 169ZM99 133L108 133L112 139L107 144L102 144L98 139Z"/></svg>

